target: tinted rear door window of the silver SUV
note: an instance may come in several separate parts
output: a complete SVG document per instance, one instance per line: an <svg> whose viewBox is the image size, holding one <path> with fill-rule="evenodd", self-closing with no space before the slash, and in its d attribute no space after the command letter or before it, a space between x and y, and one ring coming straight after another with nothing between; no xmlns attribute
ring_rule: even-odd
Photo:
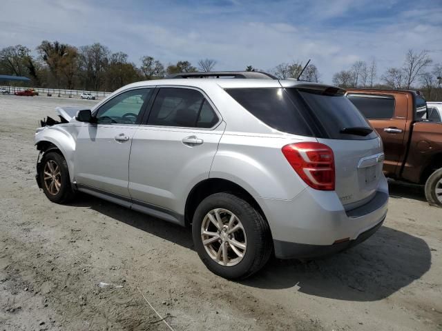
<svg viewBox="0 0 442 331"><path fill-rule="evenodd" d="M147 123L151 126L211 128L218 122L213 108L197 90L161 88Z"/></svg>

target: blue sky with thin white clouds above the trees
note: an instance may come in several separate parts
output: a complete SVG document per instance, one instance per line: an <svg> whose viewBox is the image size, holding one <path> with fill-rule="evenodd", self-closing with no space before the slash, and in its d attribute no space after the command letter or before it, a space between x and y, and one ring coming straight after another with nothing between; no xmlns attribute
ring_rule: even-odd
<svg viewBox="0 0 442 331"><path fill-rule="evenodd" d="M318 66L321 80L356 60L378 62L378 76L401 66L409 48L442 62L442 1L68 1L3 0L0 47L44 39L100 42L140 63L211 58L216 70L269 70L294 60Z"/></svg>

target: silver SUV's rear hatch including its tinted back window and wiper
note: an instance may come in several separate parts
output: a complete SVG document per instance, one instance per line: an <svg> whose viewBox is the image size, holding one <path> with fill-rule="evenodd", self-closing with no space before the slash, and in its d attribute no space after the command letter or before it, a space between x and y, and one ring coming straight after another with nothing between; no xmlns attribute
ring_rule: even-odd
<svg viewBox="0 0 442 331"><path fill-rule="evenodd" d="M367 203L383 176L383 146L378 134L344 97L344 90L308 84L286 90L305 106L318 142L333 150L335 190L344 208Z"/></svg>

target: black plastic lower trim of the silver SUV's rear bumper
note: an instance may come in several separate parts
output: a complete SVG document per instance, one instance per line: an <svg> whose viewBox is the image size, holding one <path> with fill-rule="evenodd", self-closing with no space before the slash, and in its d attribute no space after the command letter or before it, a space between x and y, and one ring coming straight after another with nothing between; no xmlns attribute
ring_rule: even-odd
<svg viewBox="0 0 442 331"><path fill-rule="evenodd" d="M279 259L314 259L319 257L327 257L329 255L352 248L353 246L365 241L365 239L372 237L372 234L381 228L383 221L384 220L374 225L373 228L362 232L354 240L334 243L333 245L308 245L305 243L290 243L288 241L273 240L275 256Z"/></svg>

